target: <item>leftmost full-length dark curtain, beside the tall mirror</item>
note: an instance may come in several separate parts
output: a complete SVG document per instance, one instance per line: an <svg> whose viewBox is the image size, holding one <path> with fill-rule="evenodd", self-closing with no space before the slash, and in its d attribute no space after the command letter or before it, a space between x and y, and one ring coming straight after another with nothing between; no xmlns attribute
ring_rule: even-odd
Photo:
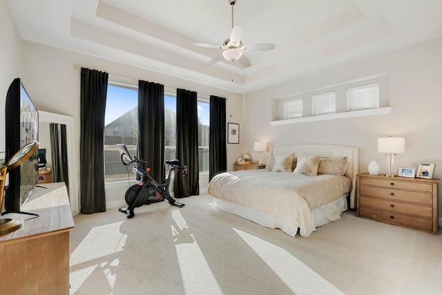
<svg viewBox="0 0 442 295"><path fill-rule="evenodd" d="M104 193L104 113L108 73L81 68L81 213L106 211Z"/></svg>

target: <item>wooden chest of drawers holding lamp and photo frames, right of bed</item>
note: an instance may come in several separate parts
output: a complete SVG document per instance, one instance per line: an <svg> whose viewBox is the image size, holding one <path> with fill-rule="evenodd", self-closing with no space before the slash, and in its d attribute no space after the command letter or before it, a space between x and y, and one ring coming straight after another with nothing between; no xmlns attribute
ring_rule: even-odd
<svg viewBox="0 0 442 295"><path fill-rule="evenodd" d="M437 234L439 179L357 175L357 216Z"/></svg>

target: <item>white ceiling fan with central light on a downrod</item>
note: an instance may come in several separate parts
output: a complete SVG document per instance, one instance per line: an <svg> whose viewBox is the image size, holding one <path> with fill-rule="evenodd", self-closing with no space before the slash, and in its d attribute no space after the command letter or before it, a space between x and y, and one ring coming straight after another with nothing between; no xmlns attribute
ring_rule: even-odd
<svg viewBox="0 0 442 295"><path fill-rule="evenodd" d="M232 7L232 30L230 33L229 39L226 39L223 44L214 45L214 44L206 44L195 42L193 45L206 47L206 48L216 48L224 50L222 55L215 57L212 59L209 64L215 64L215 62L220 61L222 57L227 59L228 61L236 61L242 66L248 68L251 66L250 60L244 56L242 53L244 51L265 51L265 50L273 50L275 49L275 44L247 44L243 41L242 38L242 26L233 26L233 6L236 4L236 0L227 0Z"/></svg>

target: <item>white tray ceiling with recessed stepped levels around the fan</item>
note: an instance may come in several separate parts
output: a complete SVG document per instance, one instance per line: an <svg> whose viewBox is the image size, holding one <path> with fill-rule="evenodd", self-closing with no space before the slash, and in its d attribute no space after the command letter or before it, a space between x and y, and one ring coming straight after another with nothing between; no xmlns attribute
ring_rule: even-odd
<svg viewBox="0 0 442 295"><path fill-rule="evenodd" d="M229 0L8 0L22 39L248 93L442 36L441 0L238 0L234 23L276 49L209 61L231 31ZM79 65L84 66L84 65ZM87 65L86 65L87 66ZM113 73L110 73L111 75Z"/></svg>

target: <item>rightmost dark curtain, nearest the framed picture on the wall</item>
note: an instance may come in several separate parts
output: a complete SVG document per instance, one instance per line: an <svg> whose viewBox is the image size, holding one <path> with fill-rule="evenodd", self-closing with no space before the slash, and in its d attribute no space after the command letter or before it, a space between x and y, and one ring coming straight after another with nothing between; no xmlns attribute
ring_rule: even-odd
<svg viewBox="0 0 442 295"><path fill-rule="evenodd" d="M209 127L209 181L227 171L226 99L211 95Z"/></svg>

